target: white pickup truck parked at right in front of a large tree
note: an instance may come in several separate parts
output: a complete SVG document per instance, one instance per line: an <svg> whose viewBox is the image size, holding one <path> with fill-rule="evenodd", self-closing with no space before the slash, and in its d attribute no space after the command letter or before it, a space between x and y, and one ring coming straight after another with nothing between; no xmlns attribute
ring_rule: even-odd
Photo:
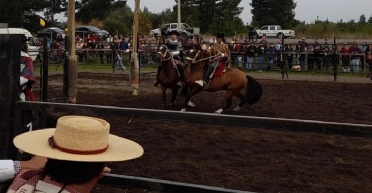
<svg viewBox="0 0 372 193"><path fill-rule="evenodd" d="M264 35L266 35L266 37L278 37L279 39L282 39L282 36L284 36L284 38L296 36L295 31L282 30L282 27L279 25L265 25L259 30L256 30L256 33L258 38L261 38Z"/></svg>

